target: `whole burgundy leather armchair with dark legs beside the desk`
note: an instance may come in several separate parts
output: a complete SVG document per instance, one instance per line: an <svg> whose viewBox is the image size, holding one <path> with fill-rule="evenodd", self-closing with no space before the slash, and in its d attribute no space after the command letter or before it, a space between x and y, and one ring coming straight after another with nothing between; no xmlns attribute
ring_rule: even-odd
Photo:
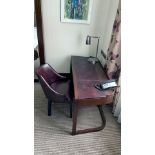
<svg viewBox="0 0 155 155"><path fill-rule="evenodd" d="M72 117L73 89L71 80L58 74L49 64L44 64L36 70L39 82L48 99L48 116L51 116L52 102L65 103L70 106Z"/></svg>

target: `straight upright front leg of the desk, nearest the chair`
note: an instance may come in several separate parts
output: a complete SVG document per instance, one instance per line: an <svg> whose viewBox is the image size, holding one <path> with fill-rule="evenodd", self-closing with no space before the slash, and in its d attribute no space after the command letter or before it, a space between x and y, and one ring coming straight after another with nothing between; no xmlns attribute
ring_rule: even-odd
<svg viewBox="0 0 155 155"><path fill-rule="evenodd" d="M79 108L78 103L74 103L72 135L76 135L78 108Z"/></svg>

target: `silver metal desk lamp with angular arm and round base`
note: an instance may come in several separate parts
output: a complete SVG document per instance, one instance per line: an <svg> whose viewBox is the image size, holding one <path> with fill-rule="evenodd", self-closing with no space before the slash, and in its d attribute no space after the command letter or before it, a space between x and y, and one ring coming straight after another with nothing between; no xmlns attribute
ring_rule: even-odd
<svg viewBox="0 0 155 155"><path fill-rule="evenodd" d="M92 64L95 64L96 62L99 61L98 58L97 58L97 54L98 54L98 47L99 47L99 39L100 39L100 37L87 35L86 45L91 45L91 38L98 39L98 41L97 41L97 49L96 49L96 57L88 58L89 62L91 62Z"/></svg>

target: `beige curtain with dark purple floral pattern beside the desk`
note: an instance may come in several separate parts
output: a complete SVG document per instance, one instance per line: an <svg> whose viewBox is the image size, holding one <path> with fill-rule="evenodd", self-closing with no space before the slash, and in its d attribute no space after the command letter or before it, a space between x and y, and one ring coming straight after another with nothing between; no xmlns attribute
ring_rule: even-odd
<svg viewBox="0 0 155 155"><path fill-rule="evenodd" d="M107 60L105 70L109 79L116 79L118 85L121 86L121 4L119 1L115 21L113 24L111 41L107 51ZM113 100L113 113L118 117L118 122L121 122L121 91L118 87L115 91Z"/></svg>

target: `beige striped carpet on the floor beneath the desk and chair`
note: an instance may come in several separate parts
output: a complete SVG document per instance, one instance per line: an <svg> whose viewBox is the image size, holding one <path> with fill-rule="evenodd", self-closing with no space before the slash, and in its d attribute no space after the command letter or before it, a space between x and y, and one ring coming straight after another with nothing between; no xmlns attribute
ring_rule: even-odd
<svg viewBox="0 0 155 155"><path fill-rule="evenodd" d="M72 119L68 104L54 104L53 115L47 116L47 99L39 83L34 84L34 154L35 155L120 155L121 127L104 106L106 126L102 131L70 135ZM100 125L97 107L82 108L78 114L78 128Z"/></svg>

